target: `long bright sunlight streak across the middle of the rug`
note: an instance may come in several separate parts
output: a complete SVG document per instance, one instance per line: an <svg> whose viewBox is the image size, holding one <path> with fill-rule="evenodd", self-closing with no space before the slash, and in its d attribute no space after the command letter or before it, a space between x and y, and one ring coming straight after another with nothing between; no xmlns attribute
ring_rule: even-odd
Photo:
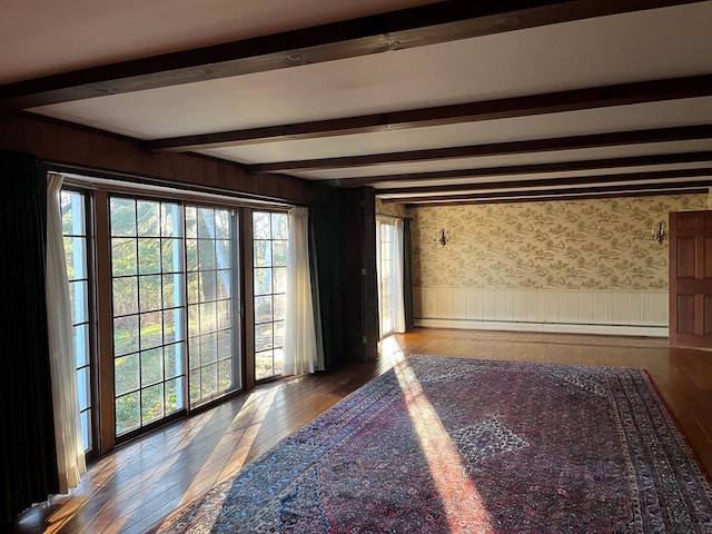
<svg viewBox="0 0 712 534"><path fill-rule="evenodd" d="M459 452L453 445L415 373L409 365L402 364L396 368L396 376L405 394L406 407L421 442L421 449L439 493L449 532L494 533L492 517L474 482L465 475Z"/></svg>

